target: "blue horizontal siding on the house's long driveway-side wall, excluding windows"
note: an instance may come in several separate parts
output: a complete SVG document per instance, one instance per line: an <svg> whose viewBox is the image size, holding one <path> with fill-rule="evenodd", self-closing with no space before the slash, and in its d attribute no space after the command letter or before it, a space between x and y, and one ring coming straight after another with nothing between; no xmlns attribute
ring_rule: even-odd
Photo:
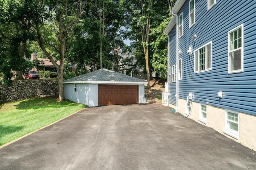
<svg viewBox="0 0 256 170"><path fill-rule="evenodd" d="M178 38L182 58L182 80L178 97L188 93L194 101L256 115L256 1L223 1L207 10L206 0L195 0L195 24L189 27L189 0L183 15L183 35ZM228 74L228 31L244 24L244 72ZM176 27L175 27L176 29ZM197 40L192 39L196 33ZM212 41L212 70L194 73L194 50ZM192 54L187 53L192 46ZM169 47L169 49L174 47ZM170 56L171 64L176 56ZM170 86L170 85L169 85ZM174 87L172 87L174 88ZM223 92L223 98L217 93Z"/></svg>

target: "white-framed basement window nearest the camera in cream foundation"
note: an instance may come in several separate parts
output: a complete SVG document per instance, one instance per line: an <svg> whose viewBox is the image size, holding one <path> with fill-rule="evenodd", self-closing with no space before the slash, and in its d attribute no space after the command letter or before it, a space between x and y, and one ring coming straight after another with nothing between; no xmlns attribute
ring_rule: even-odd
<svg viewBox="0 0 256 170"><path fill-rule="evenodd" d="M227 135L230 135L236 139L239 138L239 113L226 109L225 111L225 131Z"/></svg>

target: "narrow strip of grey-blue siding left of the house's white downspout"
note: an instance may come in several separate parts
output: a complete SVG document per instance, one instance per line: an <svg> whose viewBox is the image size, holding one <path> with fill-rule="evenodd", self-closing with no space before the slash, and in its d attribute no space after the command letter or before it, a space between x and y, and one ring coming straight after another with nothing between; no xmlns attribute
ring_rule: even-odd
<svg viewBox="0 0 256 170"><path fill-rule="evenodd" d="M172 30L169 33L169 42L168 42L168 65L169 67L172 67L173 65L176 64L176 24L172 28ZM169 68L168 68L169 69ZM175 71L176 71L176 66L175 66ZM176 77L176 72L175 72L175 77ZM176 106L176 78L175 82L170 82L168 83L168 90L169 90L169 96L168 100L170 104L173 104Z"/></svg>

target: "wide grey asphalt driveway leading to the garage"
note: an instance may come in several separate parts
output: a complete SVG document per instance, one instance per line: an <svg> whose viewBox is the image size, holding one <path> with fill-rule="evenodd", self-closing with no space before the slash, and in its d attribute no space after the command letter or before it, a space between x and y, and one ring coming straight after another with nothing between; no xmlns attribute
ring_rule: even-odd
<svg viewBox="0 0 256 170"><path fill-rule="evenodd" d="M157 104L86 108L0 149L0 169L256 169L256 152Z"/></svg>

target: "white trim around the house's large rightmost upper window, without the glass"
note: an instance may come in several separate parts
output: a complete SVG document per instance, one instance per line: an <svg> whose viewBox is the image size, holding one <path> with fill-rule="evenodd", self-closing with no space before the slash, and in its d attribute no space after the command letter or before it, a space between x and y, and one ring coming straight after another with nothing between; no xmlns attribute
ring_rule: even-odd
<svg viewBox="0 0 256 170"><path fill-rule="evenodd" d="M230 68L230 33L241 27L241 70L231 70ZM228 74L244 72L244 23L228 31Z"/></svg>

